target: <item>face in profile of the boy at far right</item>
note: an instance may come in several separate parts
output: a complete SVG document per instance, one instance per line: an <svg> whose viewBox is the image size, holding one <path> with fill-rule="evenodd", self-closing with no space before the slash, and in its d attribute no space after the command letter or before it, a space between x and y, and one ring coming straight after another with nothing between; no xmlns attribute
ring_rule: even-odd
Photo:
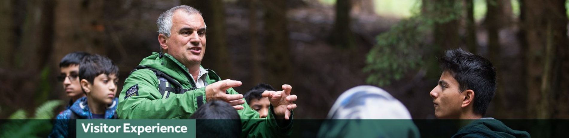
<svg viewBox="0 0 569 138"><path fill-rule="evenodd" d="M459 90L459 82L450 72L443 72L439 84L430 93L435 106L435 116L439 119L458 119L461 114L463 95Z"/></svg>

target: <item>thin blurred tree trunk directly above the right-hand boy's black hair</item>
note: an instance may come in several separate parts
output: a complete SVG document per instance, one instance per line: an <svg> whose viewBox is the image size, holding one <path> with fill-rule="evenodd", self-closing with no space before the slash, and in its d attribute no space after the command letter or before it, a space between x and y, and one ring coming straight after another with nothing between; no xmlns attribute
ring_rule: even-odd
<svg viewBox="0 0 569 138"><path fill-rule="evenodd" d="M477 53L476 20L474 19L474 0L466 1L467 10L467 47L471 53Z"/></svg>

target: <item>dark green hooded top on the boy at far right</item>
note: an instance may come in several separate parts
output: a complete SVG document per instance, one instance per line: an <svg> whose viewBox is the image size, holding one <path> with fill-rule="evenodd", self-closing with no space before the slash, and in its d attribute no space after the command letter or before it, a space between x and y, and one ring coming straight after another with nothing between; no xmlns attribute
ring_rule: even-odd
<svg viewBox="0 0 569 138"><path fill-rule="evenodd" d="M478 119L460 128L452 137L531 137L526 131L509 128L500 120Z"/></svg>

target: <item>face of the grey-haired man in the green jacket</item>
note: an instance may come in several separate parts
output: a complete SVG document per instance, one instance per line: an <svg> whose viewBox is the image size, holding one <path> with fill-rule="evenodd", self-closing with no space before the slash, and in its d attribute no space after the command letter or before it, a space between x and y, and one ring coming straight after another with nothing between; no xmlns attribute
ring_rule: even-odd
<svg viewBox="0 0 569 138"><path fill-rule="evenodd" d="M178 10L172 16L170 34L166 40L167 53L185 66L199 65L205 53L204 18Z"/></svg>

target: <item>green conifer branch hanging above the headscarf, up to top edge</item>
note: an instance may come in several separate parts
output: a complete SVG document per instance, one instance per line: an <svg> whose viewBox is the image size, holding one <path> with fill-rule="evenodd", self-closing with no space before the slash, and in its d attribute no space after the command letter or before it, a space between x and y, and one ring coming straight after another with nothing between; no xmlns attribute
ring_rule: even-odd
<svg viewBox="0 0 569 138"><path fill-rule="evenodd" d="M369 73L366 82L385 86L400 80L410 70L417 70L424 63L429 49L438 49L428 43L434 24L442 24L460 18L463 5L459 1L443 0L422 3L409 19L403 19L376 37L377 44L366 56L363 71Z"/></svg>

